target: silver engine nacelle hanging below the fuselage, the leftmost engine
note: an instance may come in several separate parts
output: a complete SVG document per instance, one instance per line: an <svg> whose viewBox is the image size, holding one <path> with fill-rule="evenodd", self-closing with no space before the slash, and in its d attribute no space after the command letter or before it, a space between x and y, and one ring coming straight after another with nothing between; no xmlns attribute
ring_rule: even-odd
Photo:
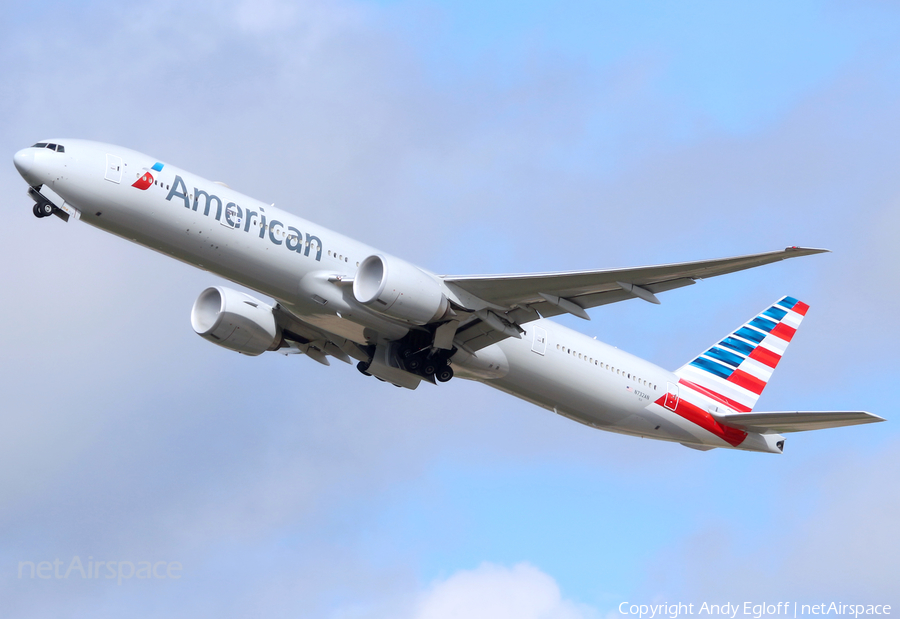
<svg viewBox="0 0 900 619"><path fill-rule="evenodd" d="M191 309L191 326L213 344L245 355L260 355L281 344L272 306L231 288L214 286L201 292Z"/></svg>

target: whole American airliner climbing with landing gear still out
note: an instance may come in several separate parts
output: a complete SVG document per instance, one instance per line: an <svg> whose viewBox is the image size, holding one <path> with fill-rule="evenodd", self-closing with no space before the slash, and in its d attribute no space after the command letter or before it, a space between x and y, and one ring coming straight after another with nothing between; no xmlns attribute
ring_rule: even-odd
<svg viewBox="0 0 900 619"><path fill-rule="evenodd" d="M357 362L415 389L478 381L592 428L782 453L783 434L884 421L866 411L754 406L809 309L779 298L670 371L550 318L825 252L779 251L637 268L437 275L170 163L109 144L52 139L14 164L39 218L83 221L271 297L202 291L194 331L245 355Z"/></svg>

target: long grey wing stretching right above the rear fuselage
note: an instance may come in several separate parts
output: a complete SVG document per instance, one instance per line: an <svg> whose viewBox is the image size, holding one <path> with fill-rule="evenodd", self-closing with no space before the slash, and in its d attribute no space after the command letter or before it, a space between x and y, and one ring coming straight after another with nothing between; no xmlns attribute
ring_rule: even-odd
<svg viewBox="0 0 900 619"><path fill-rule="evenodd" d="M788 247L761 254L600 271L522 275L444 276L459 307L477 319L460 326L455 341L470 351L507 337L518 337L525 324L543 316L569 313L590 320L588 308L627 299L659 303L656 295L689 286L698 279L725 275L827 249Z"/></svg>

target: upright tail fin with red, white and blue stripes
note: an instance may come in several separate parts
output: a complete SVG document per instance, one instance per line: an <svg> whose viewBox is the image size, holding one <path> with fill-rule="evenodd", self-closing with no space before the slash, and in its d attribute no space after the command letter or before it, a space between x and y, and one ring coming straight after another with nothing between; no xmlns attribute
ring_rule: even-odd
<svg viewBox="0 0 900 619"><path fill-rule="evenodd" d="M679 382L736 412L750 412L808 309L793 297L782 298L675 370Z"/></svg>

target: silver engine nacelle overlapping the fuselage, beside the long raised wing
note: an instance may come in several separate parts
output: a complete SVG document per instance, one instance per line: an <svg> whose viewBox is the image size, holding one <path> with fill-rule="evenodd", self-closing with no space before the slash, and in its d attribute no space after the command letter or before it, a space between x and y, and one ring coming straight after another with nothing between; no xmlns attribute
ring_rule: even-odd
<svg viewBox="0 0 900 619"><path fill-rule="evenodd" d="M408 262L379 254L359 265L353 296L376 312L416 325L441 318L450 305L434 276Z"/></svg>

